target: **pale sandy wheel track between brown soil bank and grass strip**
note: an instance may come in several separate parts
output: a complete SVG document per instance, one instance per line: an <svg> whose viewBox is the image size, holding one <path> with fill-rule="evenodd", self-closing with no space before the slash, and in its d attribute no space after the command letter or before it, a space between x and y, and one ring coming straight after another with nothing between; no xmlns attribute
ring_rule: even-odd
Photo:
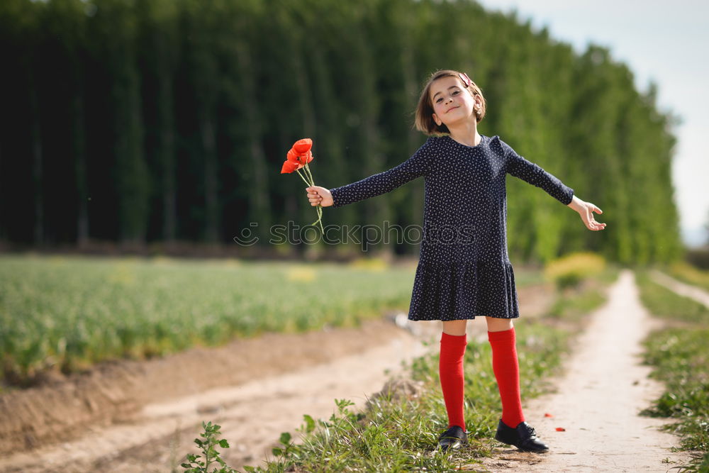
<svg viewBox="0 0 709 473"><path fill-rule="evenodd" d="M220 450L230 466L257 465L275 446L279 433L294 433L304 413L328 418L335 410L335 398L351 399L361 408L369 394L381 389L385 370L397 372L401 360L422 355L424 350L418 340L401 330L401 336L391 343L358 355L147 405L138 416L140 420L89 429L91 435L72 443L16 455L13 465L3 462L3 471L169 472L179 465L184 453L197 453L192 440L201 431L202 421L222 425L223 438L231 447Z"/></svg>

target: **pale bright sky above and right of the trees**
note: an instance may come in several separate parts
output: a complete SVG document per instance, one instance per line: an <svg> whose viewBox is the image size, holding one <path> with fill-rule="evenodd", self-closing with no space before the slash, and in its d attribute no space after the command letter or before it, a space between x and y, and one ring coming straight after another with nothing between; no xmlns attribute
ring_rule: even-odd
<svg viewBox="0 0 709 473"><path fill-rule="evenodd" d="M535 30L546 26L552 38L574 46L589 43L610 49L625 62L635 85L647 91L657 84L658 107L681 118L673 132L672 182L679 208L682 240L708 243L709 152L709 1L675 0L478 0L486 10L517 11ZM652 159L651 156L648 159ZM603 208L592 196L583 197ZM638 202L637 211L642 211ZM602 220L599 220L602 221Z"/></svg>

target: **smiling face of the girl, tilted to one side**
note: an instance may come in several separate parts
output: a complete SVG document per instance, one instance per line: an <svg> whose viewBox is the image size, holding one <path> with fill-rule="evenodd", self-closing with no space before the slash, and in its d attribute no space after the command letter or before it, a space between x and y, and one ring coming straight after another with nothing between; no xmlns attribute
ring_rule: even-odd
<svg viewBox="0 0 709 473"><path fill-rule="evenodd" d="M444 124L449 129L452 125L472 120L476 122L475 108L480 106L480 96L471 96L458 77L441 77L431 84L431 104L433 121Z"/></svg>

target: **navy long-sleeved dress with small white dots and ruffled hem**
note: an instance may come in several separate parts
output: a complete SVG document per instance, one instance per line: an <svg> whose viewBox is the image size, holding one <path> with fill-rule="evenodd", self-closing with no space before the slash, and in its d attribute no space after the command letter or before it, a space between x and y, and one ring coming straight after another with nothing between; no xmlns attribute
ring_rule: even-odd
<svg viewBox="0 0 709 473"><path fill-rule="evenodd" d="M423 176L423 238L408 318L517 318L515 275L507 253L508 173L562 204L574 196L574 189L498 136L485 135L476 146L450 136L430 137L401 165L330 192L333 207L340 207Z"/></svg>

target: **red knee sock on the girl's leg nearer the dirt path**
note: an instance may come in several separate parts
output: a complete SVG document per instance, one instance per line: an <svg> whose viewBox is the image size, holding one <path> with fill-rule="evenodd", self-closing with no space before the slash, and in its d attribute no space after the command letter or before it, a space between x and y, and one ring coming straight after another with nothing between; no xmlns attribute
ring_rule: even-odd
<svg viewBox="0 0 709 473"><path fill-rule="evenodd" d="M502 332L488 332L492 347L492 369L502 399L502 421L515 428L525 421L520 400L520 365L515 347L515 328Z"/></svg>

